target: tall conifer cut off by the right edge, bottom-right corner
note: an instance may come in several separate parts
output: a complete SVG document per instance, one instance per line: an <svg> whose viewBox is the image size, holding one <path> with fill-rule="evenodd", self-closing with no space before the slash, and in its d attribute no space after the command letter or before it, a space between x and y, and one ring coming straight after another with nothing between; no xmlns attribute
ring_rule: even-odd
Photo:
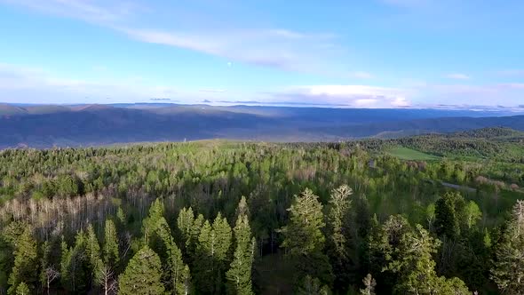
<svg viewBox="0 0 524 295"><path fill-rule="evenodd" d="M517 201L495 245L491 278L504 294L524 294L524 201Z"/></svg>

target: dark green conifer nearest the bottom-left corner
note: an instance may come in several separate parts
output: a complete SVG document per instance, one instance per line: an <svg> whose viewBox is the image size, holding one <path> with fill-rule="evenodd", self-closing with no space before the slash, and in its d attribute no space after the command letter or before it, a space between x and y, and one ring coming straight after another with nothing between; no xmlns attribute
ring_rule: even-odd
<svg viewBox="0 0 524 295"><path fill-rule="evenodd" d="M38 252L30 227L23 227L21 234L13 241L13 248L14 266L9 275L11 287L8 293L17 293L20 283L24 283L23 288L33 291L38 281Z"/></svg>

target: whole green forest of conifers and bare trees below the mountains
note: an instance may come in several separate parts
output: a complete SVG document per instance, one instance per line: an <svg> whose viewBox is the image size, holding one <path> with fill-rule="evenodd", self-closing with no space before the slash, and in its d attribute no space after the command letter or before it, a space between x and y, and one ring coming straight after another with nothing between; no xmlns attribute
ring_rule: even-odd
<svg viewBox="0 0 524 295"><path fill-rule="evenodd" d="M0 294L524 294L522 133L0 151Z"/></svg>

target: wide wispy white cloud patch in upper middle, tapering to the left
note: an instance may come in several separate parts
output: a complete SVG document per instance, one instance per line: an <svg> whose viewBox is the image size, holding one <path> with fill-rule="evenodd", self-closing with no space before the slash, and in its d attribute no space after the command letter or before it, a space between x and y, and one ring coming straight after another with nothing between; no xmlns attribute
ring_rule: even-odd
<svg viewBox="0 0 524 295"><path fill-rule="evenodd" d="M334 36L283 29L161 31L123 28L136 40L164 44L271 68L307 70L329 52Z"/></svg>

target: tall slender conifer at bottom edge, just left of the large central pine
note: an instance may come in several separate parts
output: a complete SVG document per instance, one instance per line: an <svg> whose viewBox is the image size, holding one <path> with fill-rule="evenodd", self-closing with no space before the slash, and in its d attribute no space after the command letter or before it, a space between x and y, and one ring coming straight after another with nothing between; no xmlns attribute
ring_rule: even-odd
<svg viewBox="0 0 524 295"><path fill-rule="evenodd" d="M255 240L251 237L251 229L247 215L239 215L234 227L234 250L231 268L226 273L229 281L229 293L238 295L253 294L251 271L254 260Z"/></svg>

